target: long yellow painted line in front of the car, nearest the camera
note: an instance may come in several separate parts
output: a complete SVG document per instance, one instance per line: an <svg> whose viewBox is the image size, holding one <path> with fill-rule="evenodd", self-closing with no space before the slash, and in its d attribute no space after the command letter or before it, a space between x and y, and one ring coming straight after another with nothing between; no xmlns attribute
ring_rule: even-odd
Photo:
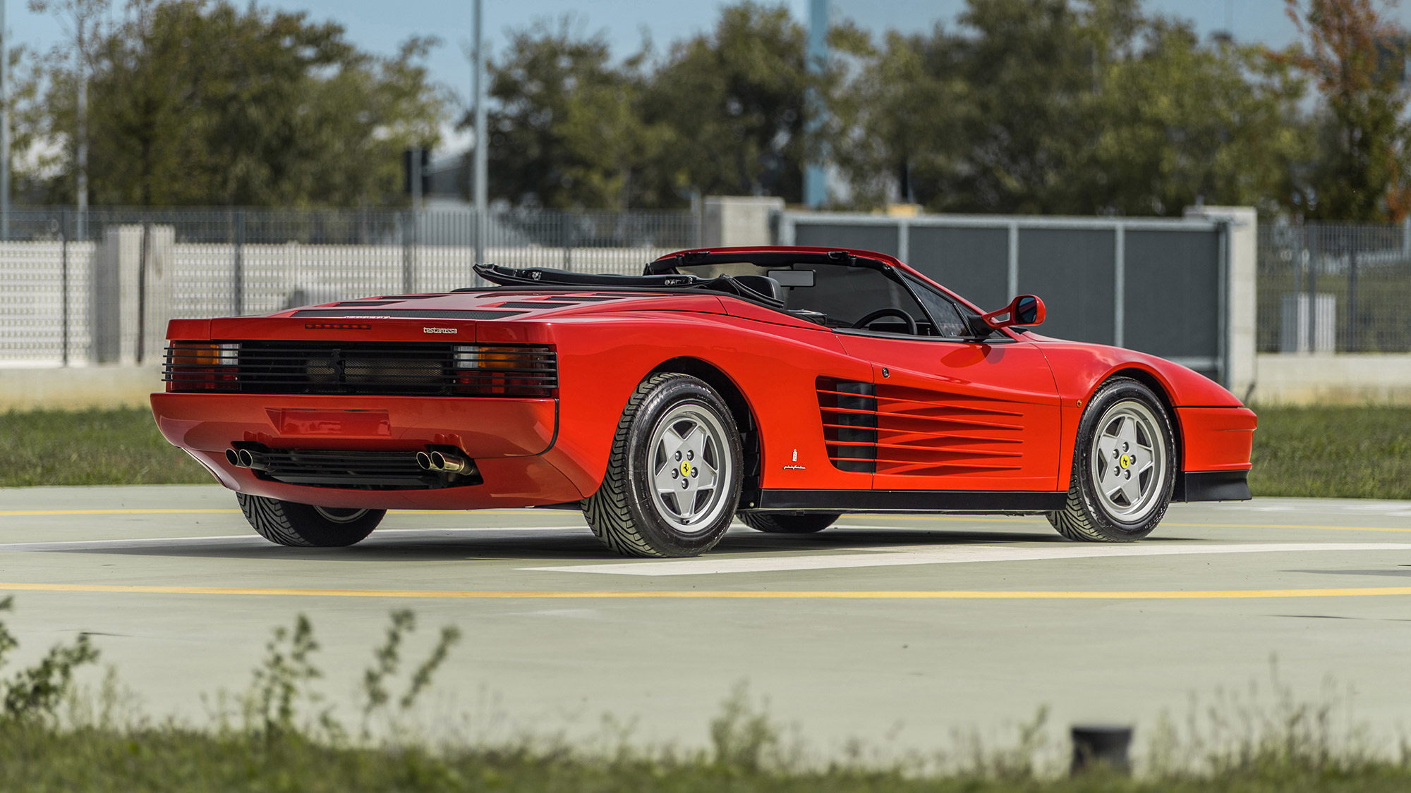
<svg viewBox="0 0 1411 793"><path fill-rule="evenodd" d="M212 594L278 597L389 597L435 600L1229 600L1285 597L1387 597L1411 595L1411 587L1329 590L1170 590L1170 591L886 591L886 590L663 590L663 591L491 591L491 590L303 590L251 587L152 587L114 584L0 583L0 591L110 593L110 594Z"/></svg>

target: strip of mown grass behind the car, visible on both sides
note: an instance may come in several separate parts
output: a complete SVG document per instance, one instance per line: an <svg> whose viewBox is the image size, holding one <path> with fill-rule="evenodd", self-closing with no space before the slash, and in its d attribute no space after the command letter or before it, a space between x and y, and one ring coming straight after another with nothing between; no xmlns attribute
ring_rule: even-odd
<svg viewBox="0 0 1411 793"><path fill-rule="evenodd" d="M1411 498L1411 408L1256 408L1254 495ZM209 484L151 412L0 415L0 487Z"/></svg>

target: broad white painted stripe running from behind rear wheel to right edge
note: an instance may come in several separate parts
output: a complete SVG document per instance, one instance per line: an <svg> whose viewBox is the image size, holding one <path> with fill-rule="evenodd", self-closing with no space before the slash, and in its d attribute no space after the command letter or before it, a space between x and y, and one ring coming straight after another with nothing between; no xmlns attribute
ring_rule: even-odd
<svg viewBox="0 0 1411 793"><path fill-rule="evenodd" d="M1332 550L1411 550L1403 542L1302 542L1252 545L928 545L912 547L856 547L852 553L827 556L755 556L749 559L707 556L670 562L621 562L614 564L571 564L521 567L552 573L605 573L612 576L707 576L718 573L779 573L789 570L835 570L844 567L893 567L902 564L957 564L967 562L1041 562L1055 559L1109 559L1127 556L1189 556L1202 553L1297 553ZM866 553L856 553L866 552Z"/></svg>

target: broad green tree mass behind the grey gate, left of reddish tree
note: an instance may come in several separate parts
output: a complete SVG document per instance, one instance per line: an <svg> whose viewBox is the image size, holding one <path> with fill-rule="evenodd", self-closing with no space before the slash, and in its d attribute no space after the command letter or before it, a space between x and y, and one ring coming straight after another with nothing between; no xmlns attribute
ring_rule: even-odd
<svg viewBox="0 0 1411 793"><path fill-rule="evenodd" d="M1312 155L1302 83L1137 0L971 1L951 32L854 47L832 148L854 196L941 212L1277 212Z"/></svg>

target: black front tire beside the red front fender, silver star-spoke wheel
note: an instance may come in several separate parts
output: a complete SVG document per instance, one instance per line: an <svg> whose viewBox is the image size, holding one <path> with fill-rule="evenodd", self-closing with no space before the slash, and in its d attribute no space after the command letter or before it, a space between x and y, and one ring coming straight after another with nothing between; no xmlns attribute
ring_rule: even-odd
<svg viewBox="0 0 1411 793"><path fill-rule="evenodd" d="M1130 449L1127 440L1115 435L1105 432L1098 437L1099 432L1123 426L1123 416L1132 422L1127 426L1134 433L1130 436L1134 439L1130 440ZM1141 446L1140 440L1146 440L1147 446ZM1109 380L1088 402L1075 443L1068 502L1062 509L1048 512L1048 522L1058 533L1078 542L1134 542L1151 533L1171 504L1180 457L1171 418L1157 395L1136 380ZM1110 449L1103 453L1098 446ZM1102 468L1098 467L1095 454L1102 456ZM1106 459L1108 454L1112 454L1112 460ZM1139 460L1137 454L1150 454L1151 459ZM1141 468L1147 461L1150 466ZM1103 480L1109 470L1113 478ZM1137 483L1132 492L1139 495L1129 500L1123 492L1125 485L1133 481L1132 470L1136 470ZM1151 478L1147 480L1147 476ZM1113 488L1113 484L1118 487ZM1116 494L1123 502L1118 502L1113 495L1103 495L1103 490Z"/></svg>

